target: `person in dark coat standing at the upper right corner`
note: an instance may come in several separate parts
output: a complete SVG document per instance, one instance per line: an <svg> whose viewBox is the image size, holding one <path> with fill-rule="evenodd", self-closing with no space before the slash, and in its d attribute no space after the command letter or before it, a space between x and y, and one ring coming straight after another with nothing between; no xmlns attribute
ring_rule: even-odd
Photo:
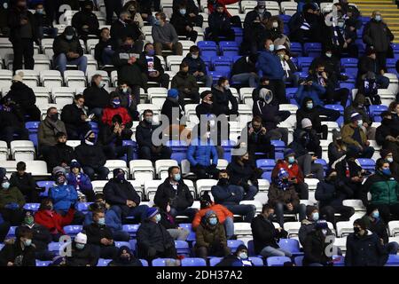
<svg viewBox="0 0 399 284"><path fill-rule="evenodd" d="M394 35L382 20L381 12L373 11L372 19L364 26L363 41L375 50L381 68L380 75L384 75L387 70L387 53L393 40Z"/></svg>

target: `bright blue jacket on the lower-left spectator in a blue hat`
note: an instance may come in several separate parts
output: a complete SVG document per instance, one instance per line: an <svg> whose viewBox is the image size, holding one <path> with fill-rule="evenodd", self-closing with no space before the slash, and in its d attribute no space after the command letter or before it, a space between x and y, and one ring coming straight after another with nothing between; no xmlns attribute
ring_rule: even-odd
<svg viewBox="0 0 399 284"><path fill-rule="evenodd" d="M50 188L49 198L53 201L54 210L67 211L71 207L71 204L77 201L78 195L74 186L58 185Z"/></svg>

